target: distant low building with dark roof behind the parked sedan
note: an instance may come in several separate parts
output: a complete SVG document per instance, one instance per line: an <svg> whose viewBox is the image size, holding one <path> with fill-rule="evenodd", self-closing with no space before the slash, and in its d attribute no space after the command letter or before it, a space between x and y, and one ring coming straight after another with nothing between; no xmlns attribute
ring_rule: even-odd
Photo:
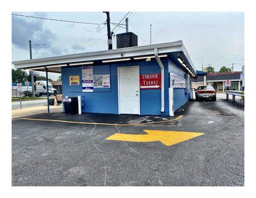
<svg viewBox="0 0 256 198"><path fill-rule="evenodd" d="M242 71L208 73L206 76L206 85L211 85L217 92L225 92L225 90L240 91L242 90L241 73ZM225 87L226 80L231 81L230 87ZM195 89L202 85L204 85L204 76L199 76L198 82L192 82L192 88Z"/></svg>

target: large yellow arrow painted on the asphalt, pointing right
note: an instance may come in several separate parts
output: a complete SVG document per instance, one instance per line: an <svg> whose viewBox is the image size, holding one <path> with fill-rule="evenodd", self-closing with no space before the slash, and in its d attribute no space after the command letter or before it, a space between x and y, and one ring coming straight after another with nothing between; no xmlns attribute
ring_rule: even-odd
<svg viewBox="0 0 256 198"><path fill-rule="evenodd" d="M204 133L182 132L182 131L156 131L144 130L147 134L122 134L116 133L105 140L117 140L128 142L155 142L160 141L166 146L178 144L180 142L204 135Z"/></svg>

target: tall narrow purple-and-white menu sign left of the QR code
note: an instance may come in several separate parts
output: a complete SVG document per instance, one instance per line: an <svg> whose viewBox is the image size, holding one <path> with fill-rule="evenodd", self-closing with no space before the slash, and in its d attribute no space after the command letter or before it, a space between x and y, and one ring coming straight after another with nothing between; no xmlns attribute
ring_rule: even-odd
<svg viewBox="0 0 256 198"><path fill-rule="evenodd" d="M93 66L82 67L82 91L93 92Z"/></svg>

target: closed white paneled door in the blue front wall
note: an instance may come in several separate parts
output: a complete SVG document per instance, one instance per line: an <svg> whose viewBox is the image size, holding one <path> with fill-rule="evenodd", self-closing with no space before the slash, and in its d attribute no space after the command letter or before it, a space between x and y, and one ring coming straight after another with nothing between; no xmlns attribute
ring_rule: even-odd
<svg viewBox="0 0 256 198"><path fill-rule="evenodd" d="M139 66L118 67L120 114L140 114L139 84Z"/></svg>

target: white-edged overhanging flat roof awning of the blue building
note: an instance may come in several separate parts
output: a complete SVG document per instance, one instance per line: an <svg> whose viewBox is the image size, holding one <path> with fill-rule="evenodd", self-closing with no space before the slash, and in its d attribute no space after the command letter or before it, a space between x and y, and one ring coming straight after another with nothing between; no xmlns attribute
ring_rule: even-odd
<svg viewBox="0 0 256 198"><path fill-rule="evenodd" d="M190 69L190 71L194 75L197 75L196 69L182 41L147 46L137 46L131 48L75 53L47 58L13 61L12 64L14 64L15 69L45 71L45 68L47 67L48 72L61 73L61 68L63 66L72 67L72 65L83 65L83 63L85 63L86 65L98 65L99 63L103 64L104 62L113 62L113 60L116 60L115 63L119 61L135 61L138 59L138 57L154 55L155 48L157 48L159 55L167 54L168 57L171 58L172 61L174 61L177 65L180 64L179 62L177 62L177 57L181 57L184 63L186 63L187 67Z"/></svg>

